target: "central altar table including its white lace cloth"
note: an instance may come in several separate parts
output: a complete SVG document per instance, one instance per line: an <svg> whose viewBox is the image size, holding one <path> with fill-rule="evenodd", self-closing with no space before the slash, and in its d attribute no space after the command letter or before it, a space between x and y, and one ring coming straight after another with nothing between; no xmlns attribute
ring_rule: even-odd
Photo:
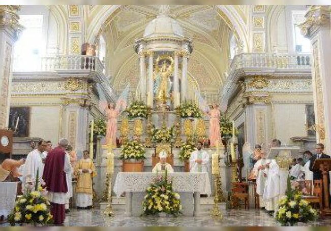
<svg viewBox="0 0 331 231"><path fill-rule="evenodd" d="M113 191L117 197L126 192L126 215L140 216L145 190L157 176L156 173L120 172L116 176ZM211 194L208 173L169 173L172 189L180 195L183 214L198 216L200 212L200 192ZM194 195L194 207L193 207Z"/></svg>

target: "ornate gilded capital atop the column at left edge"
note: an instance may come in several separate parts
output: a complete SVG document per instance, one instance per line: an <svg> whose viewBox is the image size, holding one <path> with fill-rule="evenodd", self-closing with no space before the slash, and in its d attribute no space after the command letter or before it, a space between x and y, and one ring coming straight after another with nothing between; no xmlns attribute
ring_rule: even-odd
<svg viewBox="0 0 331 231"><path fill-rule="evenodd" d="M0 6L0 28L6 29L14 41L17 41L21 31L24 29L22 25L18 23L18 15L16 12L20 9L20 6L3 5Z"/></svg>

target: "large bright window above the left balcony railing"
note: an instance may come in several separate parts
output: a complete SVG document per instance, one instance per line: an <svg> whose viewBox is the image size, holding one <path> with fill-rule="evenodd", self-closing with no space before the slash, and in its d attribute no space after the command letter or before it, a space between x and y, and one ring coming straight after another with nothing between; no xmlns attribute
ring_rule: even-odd
<svg viewBox="0 0 331 231"><path fill-rule="evenodd" d="M40 70L43 54L43 15L20 15L19 23L25 27L14 48L14 71Z"/></svg>

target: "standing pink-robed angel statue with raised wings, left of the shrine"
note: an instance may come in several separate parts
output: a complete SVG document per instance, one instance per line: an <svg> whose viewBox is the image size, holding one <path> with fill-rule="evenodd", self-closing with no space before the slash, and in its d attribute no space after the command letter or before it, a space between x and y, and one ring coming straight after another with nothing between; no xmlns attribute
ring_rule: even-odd
<svg viewBox="0 0 331 231"><path fill-rule="evenodd" d="M127 108L128 94L130 84L122 92L121 96L118 97L116 104L107 103L106 99L100 94L100 109L107 116L107 128L106 128L106 145L116 147L116 131L117 131L117 118Z"/></svg>

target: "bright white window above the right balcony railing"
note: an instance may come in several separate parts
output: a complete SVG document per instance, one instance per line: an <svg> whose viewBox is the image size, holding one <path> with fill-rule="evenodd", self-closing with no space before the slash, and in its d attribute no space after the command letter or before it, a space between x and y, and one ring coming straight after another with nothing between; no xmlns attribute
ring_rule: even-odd
<svg viewBox="0 0 331 231"><path fill-rule="evenodd" d="M292 11L293 45L295 52L310 53L310 40L305 38L298 25L305 20L305 11Z"/></svg>

